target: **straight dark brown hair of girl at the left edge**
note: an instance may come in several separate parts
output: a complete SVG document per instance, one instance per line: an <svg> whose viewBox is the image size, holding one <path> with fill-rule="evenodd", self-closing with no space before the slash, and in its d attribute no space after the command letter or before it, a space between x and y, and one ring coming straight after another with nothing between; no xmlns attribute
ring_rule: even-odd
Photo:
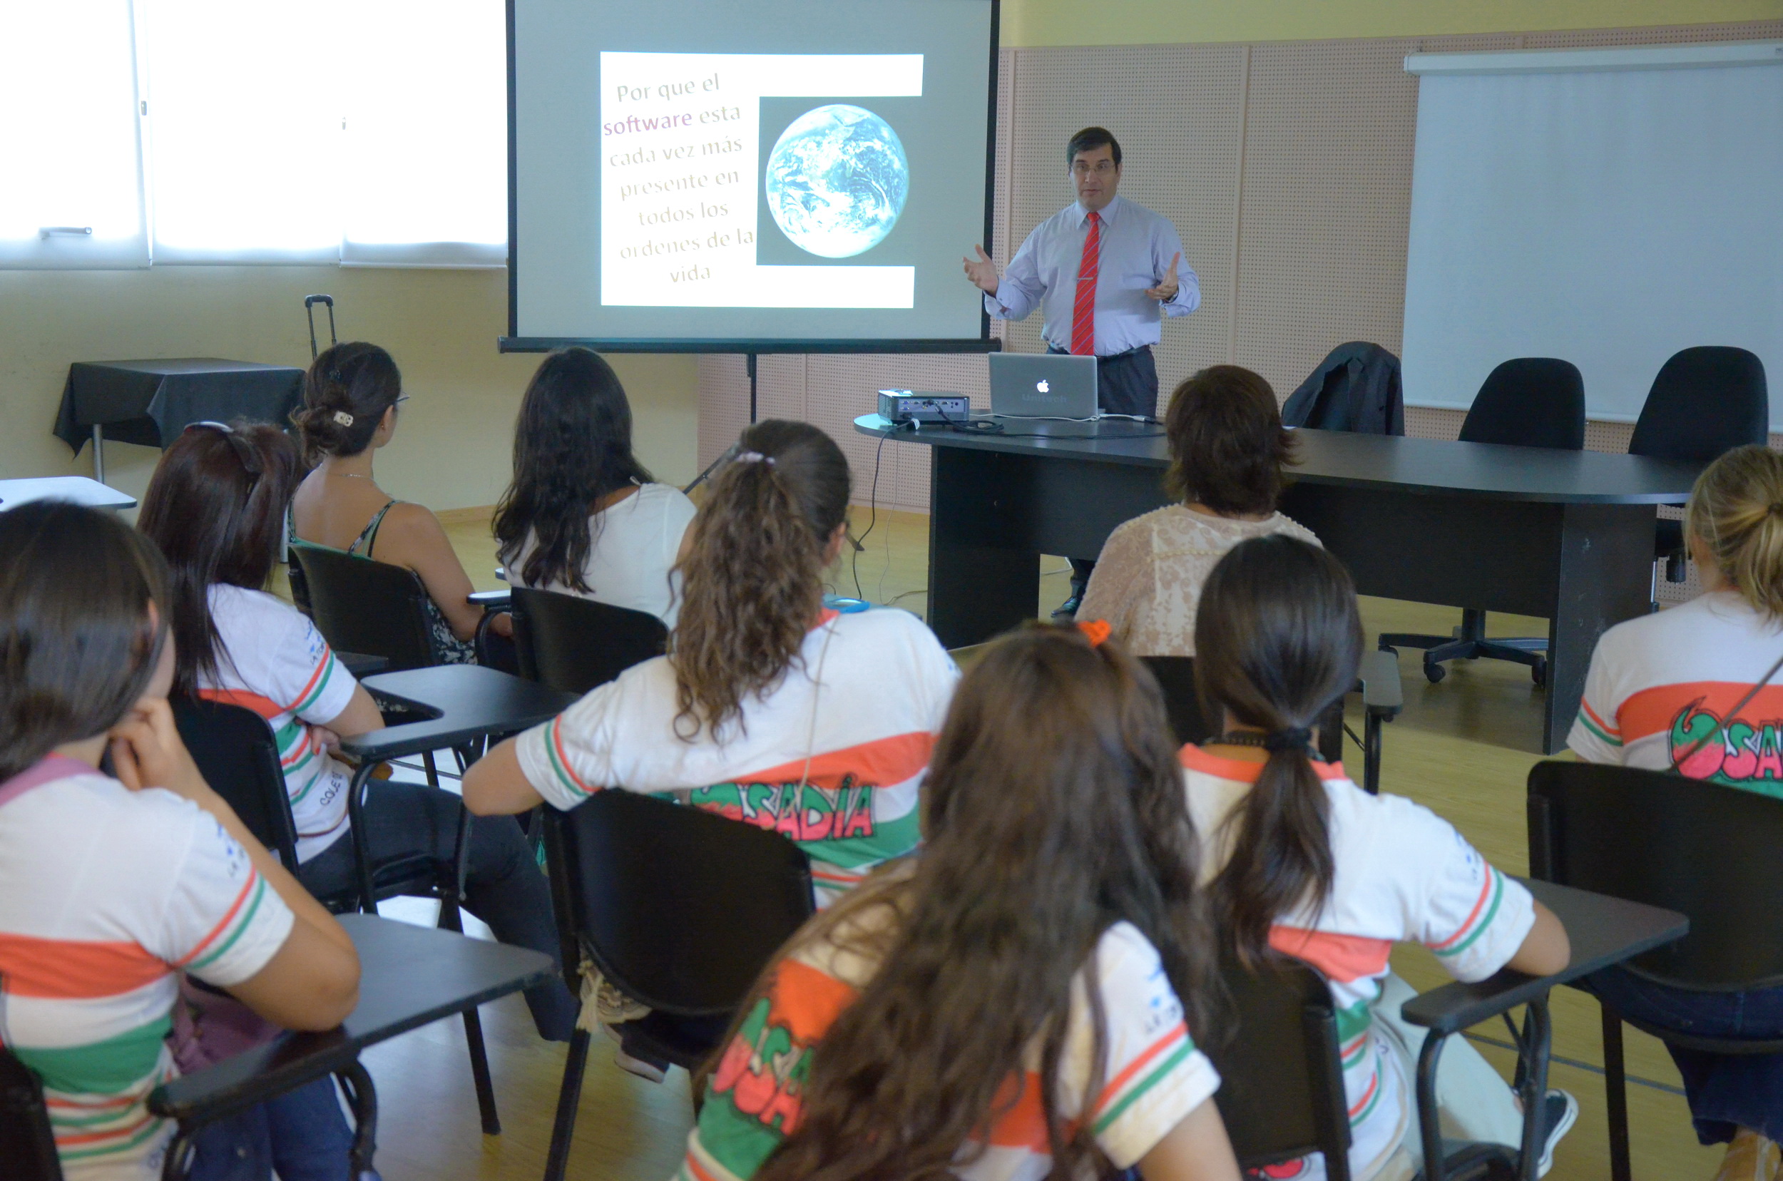
<svg viewBox="0 0 1783 1181"><path fill-rule="evenodd" d="M114 514L64 501L0 512L0 553L4 781L143 696L168 642L168 571Z"/></svg>

